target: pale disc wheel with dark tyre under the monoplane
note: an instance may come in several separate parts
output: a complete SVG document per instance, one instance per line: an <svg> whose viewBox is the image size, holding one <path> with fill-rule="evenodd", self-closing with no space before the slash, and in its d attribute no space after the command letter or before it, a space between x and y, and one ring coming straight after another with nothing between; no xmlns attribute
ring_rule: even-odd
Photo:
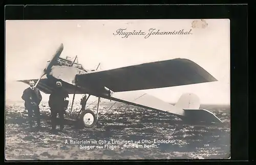
<svg viewBox="0 0 256 165"><path fill-rule="evenodd" d="M96 124L96 116L91 110L84 110L80 114L80 121L86 128L92 128Z"/></svg>

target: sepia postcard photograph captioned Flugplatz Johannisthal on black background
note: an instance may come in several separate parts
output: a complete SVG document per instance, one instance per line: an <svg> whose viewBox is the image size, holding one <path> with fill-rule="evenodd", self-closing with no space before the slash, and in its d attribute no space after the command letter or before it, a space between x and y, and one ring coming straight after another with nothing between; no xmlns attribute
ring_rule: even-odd
<svg viewBox="0 0 256 165"><path fill-rule="evenodd" d="M230 20L6 20L6 160L230 159Z"/></svg>

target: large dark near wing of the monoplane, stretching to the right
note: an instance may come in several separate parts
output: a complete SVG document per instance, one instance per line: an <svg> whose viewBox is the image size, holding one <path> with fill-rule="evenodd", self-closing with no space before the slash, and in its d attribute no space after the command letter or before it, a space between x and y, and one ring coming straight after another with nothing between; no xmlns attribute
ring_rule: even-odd
<svg viewBox="0 0 256 165"><path fill-rule="evenodd" d="M105 86L114 92L217 81L188 59L172 59L77 75L80 86Z"/></svg>

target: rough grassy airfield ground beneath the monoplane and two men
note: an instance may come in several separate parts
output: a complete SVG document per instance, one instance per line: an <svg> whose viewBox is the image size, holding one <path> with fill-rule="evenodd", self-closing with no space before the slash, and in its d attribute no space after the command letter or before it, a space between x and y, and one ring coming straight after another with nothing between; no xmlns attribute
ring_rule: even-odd
<svg viewBox="0 0 256 165"><path fill-rule="evenodd" d="M27 111L23 103L6 103L6 159L7 160L89 160L89 159L211 159L228 158L230 153L230 108L208 105L201 108L215 113L222 124L200 126L188 125L176 116L145 110L134 106L104 105L99 110L101 126L79 129L67 121L64 132L52 134L48 106L40 106L42 129L30 132ZM94 105L91 105L94 110ZM90 108L89 107L89 108ZM121 107L121 108L120 108ZM75 110L80 105L75 106ZM57 127L58 128L58 127ZM112 144L111 149L99 144L99 140L133 140L123 144ZM153 143L143 140L175 140L175 144ZM80 145L65 144L70 140L84 140L94 149L80 149ZM139 142L137 146L135 142ZM97 144L92 144L92 142ZM98 146L98 148L96 148ZM99 149L99 147L103 147ZM110 147L110 146L109 146ZM138 148L137 148L138 147Z"/></svg>

